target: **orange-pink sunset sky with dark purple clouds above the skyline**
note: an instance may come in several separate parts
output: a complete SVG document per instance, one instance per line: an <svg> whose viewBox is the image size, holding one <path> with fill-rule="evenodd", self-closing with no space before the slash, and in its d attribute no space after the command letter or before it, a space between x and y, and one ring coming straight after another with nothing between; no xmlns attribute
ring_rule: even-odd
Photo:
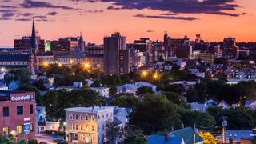
<svg viewBox="0 0 256 144"><path fill-rule="evenodd" d="M102 44L115 31L127 42L201 34L206 41L256 42L256 0L0 0L0 46L31 33L35 14L41 38L82 36Z"/></svg>

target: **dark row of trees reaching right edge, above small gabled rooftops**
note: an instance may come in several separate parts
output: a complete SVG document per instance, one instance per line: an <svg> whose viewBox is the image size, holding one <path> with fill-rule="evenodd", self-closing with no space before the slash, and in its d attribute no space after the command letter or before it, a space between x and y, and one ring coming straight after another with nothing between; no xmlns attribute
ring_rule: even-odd
<svg viewBox="0 0 256 144"><path fill-rule="evenodd" d="M218 102L226 101L230 105L241 102L246 99L254 99L256 92L256 82L239 82L229 85L223 80L212 81L204 79L202 82L186 90L188 102L205 102L209 98L214 98Z"/></svg>

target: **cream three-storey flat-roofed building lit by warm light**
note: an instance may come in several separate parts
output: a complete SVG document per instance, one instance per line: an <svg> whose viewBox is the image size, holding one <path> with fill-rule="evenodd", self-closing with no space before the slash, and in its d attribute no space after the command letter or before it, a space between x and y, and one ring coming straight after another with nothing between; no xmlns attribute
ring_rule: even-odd
<svg viewBox="0 0 256 144"><path fill-rule="evenodd" d="M114 122L114 106L74 107L65 111L66 141L106 142L106 122Z"/></svg>

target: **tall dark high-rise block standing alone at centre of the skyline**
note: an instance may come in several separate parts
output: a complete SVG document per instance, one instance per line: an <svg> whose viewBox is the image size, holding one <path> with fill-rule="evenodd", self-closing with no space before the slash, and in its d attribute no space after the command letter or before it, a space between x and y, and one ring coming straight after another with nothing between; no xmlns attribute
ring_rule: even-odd
<svg viewBox="0 0 256 144"><path fill-rule="evenodd" d="M104 74L126 74L130 71L126 37L120 33L104 38Z"/></svg>

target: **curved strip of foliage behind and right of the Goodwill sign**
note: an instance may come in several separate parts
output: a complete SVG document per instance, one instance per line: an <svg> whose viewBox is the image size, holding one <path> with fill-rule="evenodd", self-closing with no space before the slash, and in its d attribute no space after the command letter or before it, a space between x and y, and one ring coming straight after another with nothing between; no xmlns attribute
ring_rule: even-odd
<svg viewBox="0 0 256 144"><path fill-rule="evenodd" d="M22 85L18 87L17 90L31 91L31 92L33 91L35 93L35 102L37 103L38 106L42 106L42 95L40 94L40 92L36 87L29 86L29 85Z"/></svg>

